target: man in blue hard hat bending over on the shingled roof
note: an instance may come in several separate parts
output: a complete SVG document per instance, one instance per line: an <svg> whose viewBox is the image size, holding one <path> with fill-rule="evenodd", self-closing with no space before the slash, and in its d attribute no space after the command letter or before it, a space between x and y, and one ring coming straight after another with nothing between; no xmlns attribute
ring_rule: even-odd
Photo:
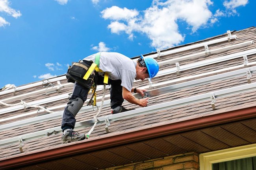
<svg viewBox="0 0 256 170"><path fill-rule="evenodd" d="M141 55L139 60L134 61L121 53L100 52L85 57L82 60L82 63L85 64L85 66L88 66L88 68L95 62L98 62L98 68L102 72L94 71L93 74L91 74L95 74L92 81L82 83L81 81L76 80L74 84L72 96L63 112L61 123L61 129L63 131L62 143L85 139L85 134L80 135L73 131L76 123L75 116L86 101L93 81L96 84L103 84L104 73L108 73L108 84L111 85L110 106L113 109L113 114L133 110L133 108L126 109L122 106L124 99L141 107L147 106L148 98L137 99L132 95L134 92L140 93L143 96L143 92L146 90L133 88L132 85L134 80L149 79L151 82L151 78L156 76L159 70L159 65L154 58L144 58L143 55Z"/></svg>

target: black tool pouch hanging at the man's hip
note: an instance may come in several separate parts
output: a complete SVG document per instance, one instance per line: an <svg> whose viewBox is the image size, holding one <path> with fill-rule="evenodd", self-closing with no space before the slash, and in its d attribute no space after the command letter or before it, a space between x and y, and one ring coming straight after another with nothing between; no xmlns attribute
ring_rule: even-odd
<svg viewBox="0 0 256 170"><path fill-rule="evenodd" d="M78 84L81 84L86 88L91 88L95 77L95 71L92 72L87 80L83 79L83 76L85 75L89 67L90 66L88 66L88 64L85 64L83 62L74 62L72 66L69 66L66 74L68 82L77 82Z"/></svg>

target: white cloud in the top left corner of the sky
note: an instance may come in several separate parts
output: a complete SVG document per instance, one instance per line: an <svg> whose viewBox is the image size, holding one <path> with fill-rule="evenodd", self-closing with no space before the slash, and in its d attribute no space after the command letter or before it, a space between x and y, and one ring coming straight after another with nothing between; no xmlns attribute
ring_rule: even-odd
<svg viewBox="0 0 256 170"><path fill-rule="evenodd" d="M11 7L9 7L9 5L10 2L8 0L0 0L0 12L7 13L7 15L11 15L14 18L18 18L19 16L21 16L20 11L12 9ZM4 27L6 25L10 25L10 23L0 16L0 27Z"/></svg>

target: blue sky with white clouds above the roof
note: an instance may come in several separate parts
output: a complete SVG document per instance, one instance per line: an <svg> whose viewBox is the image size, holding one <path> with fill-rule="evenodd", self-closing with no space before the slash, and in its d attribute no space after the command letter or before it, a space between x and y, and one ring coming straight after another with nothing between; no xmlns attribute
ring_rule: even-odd
<svg viewBox="0 0 256 170"><path fill-rule="evenodd" d="M255 0L0 0L0 88L62 75L98 51L128 57L255 24Z"/></svg>

